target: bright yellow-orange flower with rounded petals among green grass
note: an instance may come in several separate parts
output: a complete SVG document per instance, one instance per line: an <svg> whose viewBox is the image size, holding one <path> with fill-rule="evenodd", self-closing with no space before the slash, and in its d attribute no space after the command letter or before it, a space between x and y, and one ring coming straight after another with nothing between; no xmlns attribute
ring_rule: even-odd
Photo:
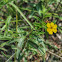
<svg viewBox="0 0 62 62"><path fill-rule="evenodd" d="M53 34L53 32L56 33L57 32L57 25L54 24L53 22L47 23L47 32L51 35Z"/></svg>

